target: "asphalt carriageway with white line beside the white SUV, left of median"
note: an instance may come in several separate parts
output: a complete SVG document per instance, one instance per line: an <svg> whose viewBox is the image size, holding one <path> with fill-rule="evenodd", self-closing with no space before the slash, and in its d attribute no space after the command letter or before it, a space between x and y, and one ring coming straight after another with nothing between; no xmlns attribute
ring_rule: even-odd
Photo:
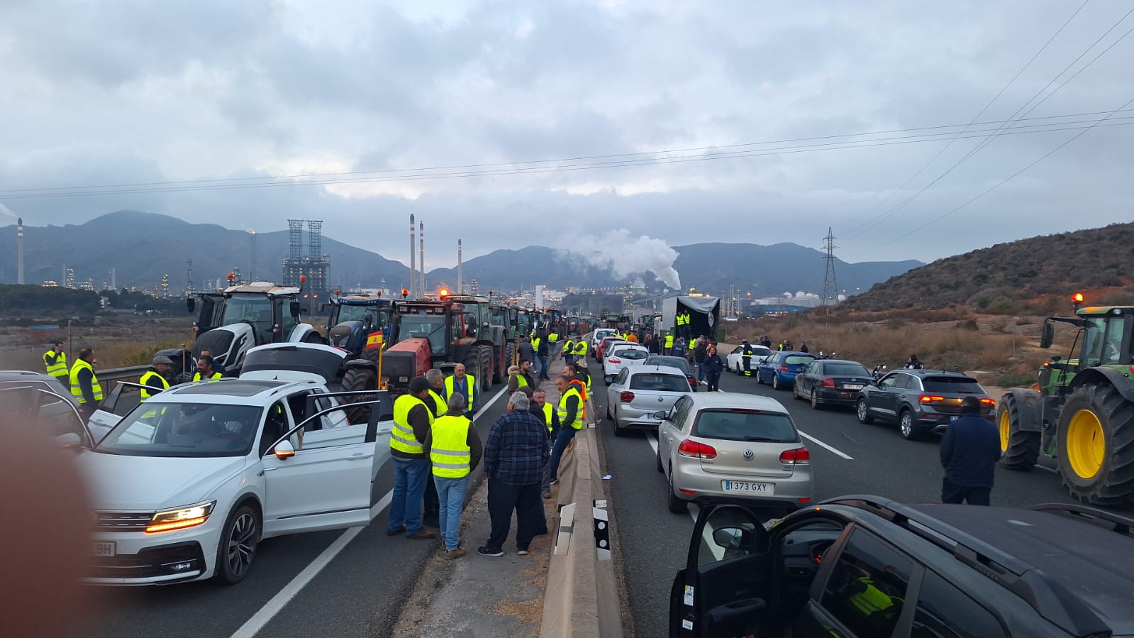
<svg viewBox="0 0 1134 638"><path fill-rule="evenodd" d="M506 391L498 384L481 396L474 420L482 440L507 406ZM374 482L369 527L266 539L238 585L92 587L96 611L84 635L390 636L421 566L437 552L435 542L386 535L392 488L391 462ZM468 547L483 542L465 539Z"/></svg>

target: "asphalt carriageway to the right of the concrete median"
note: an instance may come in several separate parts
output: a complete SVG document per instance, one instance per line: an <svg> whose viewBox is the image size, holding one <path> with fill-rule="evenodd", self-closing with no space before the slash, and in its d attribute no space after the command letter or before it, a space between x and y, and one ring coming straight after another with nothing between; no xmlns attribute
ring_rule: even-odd
<svg viewBox="0 0 1134 638"><path fill-rule="evenodd" d="M593 398L598 414L607 413L607 393L599 366L591 360L595 379ZM911 442L897 426L862 425L853 409L812 410L809 402L793 400L790 391L758 385L755 377L725 372L725 392L746 392L779 400L795 420L811 451L815 472L815 501L845 494L875 494L904 502L939 502L941 464L939 436ZM704 386L701 386L704 392ZM600 421L604 450L603 470L611 475L611 527L617 535L629 611L637 636L666 636L669 588L684 566L688 537L697 509L674 514L666 509L666 479L658 473L654 454L657 434L631 431L615 438L610 421ZM1072 502L1059 477L1036 468L1014 472L997 468L992 504L1029 506Z"/></svg>

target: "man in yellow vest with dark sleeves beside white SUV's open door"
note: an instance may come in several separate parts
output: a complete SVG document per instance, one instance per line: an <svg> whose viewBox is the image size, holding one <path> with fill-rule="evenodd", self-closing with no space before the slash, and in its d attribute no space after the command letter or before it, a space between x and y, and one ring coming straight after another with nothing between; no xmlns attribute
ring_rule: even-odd
<svg viewBox="0 0 1134 638"><path fill-rule="evenodd" d="M437 538L422 529L422 496L429 477L430 461L422 444L433 425L433 412L426 401L429 381L425 377L409 379L409 392L393 401L393 431L390 433L390 455L393 457L393 495L387 536L405 534L406 538Z"/></svg>

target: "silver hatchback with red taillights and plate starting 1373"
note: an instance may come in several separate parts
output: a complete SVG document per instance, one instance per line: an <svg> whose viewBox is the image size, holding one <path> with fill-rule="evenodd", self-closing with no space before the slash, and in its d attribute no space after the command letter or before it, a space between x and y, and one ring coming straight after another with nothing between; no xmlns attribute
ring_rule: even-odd
<svg viewBox="0 0 1134 638"><path fill-rule="evenodd" d="M658 471L669 479L670 512L710 498L760 502L778 510L811 502L811 452L775 398L689 394L658 417Z"/></svg>

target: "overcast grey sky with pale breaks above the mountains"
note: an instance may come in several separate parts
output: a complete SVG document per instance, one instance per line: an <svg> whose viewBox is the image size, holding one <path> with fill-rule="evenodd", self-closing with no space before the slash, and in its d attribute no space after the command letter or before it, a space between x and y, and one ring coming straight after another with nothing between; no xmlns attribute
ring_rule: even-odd
<svg viewBox="0 0 1134 638"><path fill-rule="evenodd" d="M9 212L42 226L136 209L268 232L304 217L323 219L328 236L407 261L416 213L432 268L456 261L458 237L466 258L569 246L616 228L671 245L820 247L830 226L847 261L931 261L1129 221L1134 127L1088 131L921 230L1081 131L985 140L998 124L976 124L971 131L983 133L948 148L896 143L960 132L1081 5L0 0L0 225ZM1114 27L1039 99L1059 87L1134 27L1134 15L1115 27L1131 8L1090 1L978 121L1021 112ZM1101 115L1016 126L1085 127L1118 109L1134 99L1131 59L1134 36L1026 114ZM1134 111L1103 124L1134 123L1123 115ZM945 125L962 126L722 148ZM713 149L672 152L702 148ZM738 150L759 152L704 154ZM668 152L506 163L655 151ZM718 159L685 161L704 157ZM587 169L626 159L640 166ZM362 173L347 177L367 181L213 187L485 163L501 166L440 171L493 173L472 177ZM514 173L535 167L560 169ZM95 196L12 192L249 177L261 179Z"/></svg>

